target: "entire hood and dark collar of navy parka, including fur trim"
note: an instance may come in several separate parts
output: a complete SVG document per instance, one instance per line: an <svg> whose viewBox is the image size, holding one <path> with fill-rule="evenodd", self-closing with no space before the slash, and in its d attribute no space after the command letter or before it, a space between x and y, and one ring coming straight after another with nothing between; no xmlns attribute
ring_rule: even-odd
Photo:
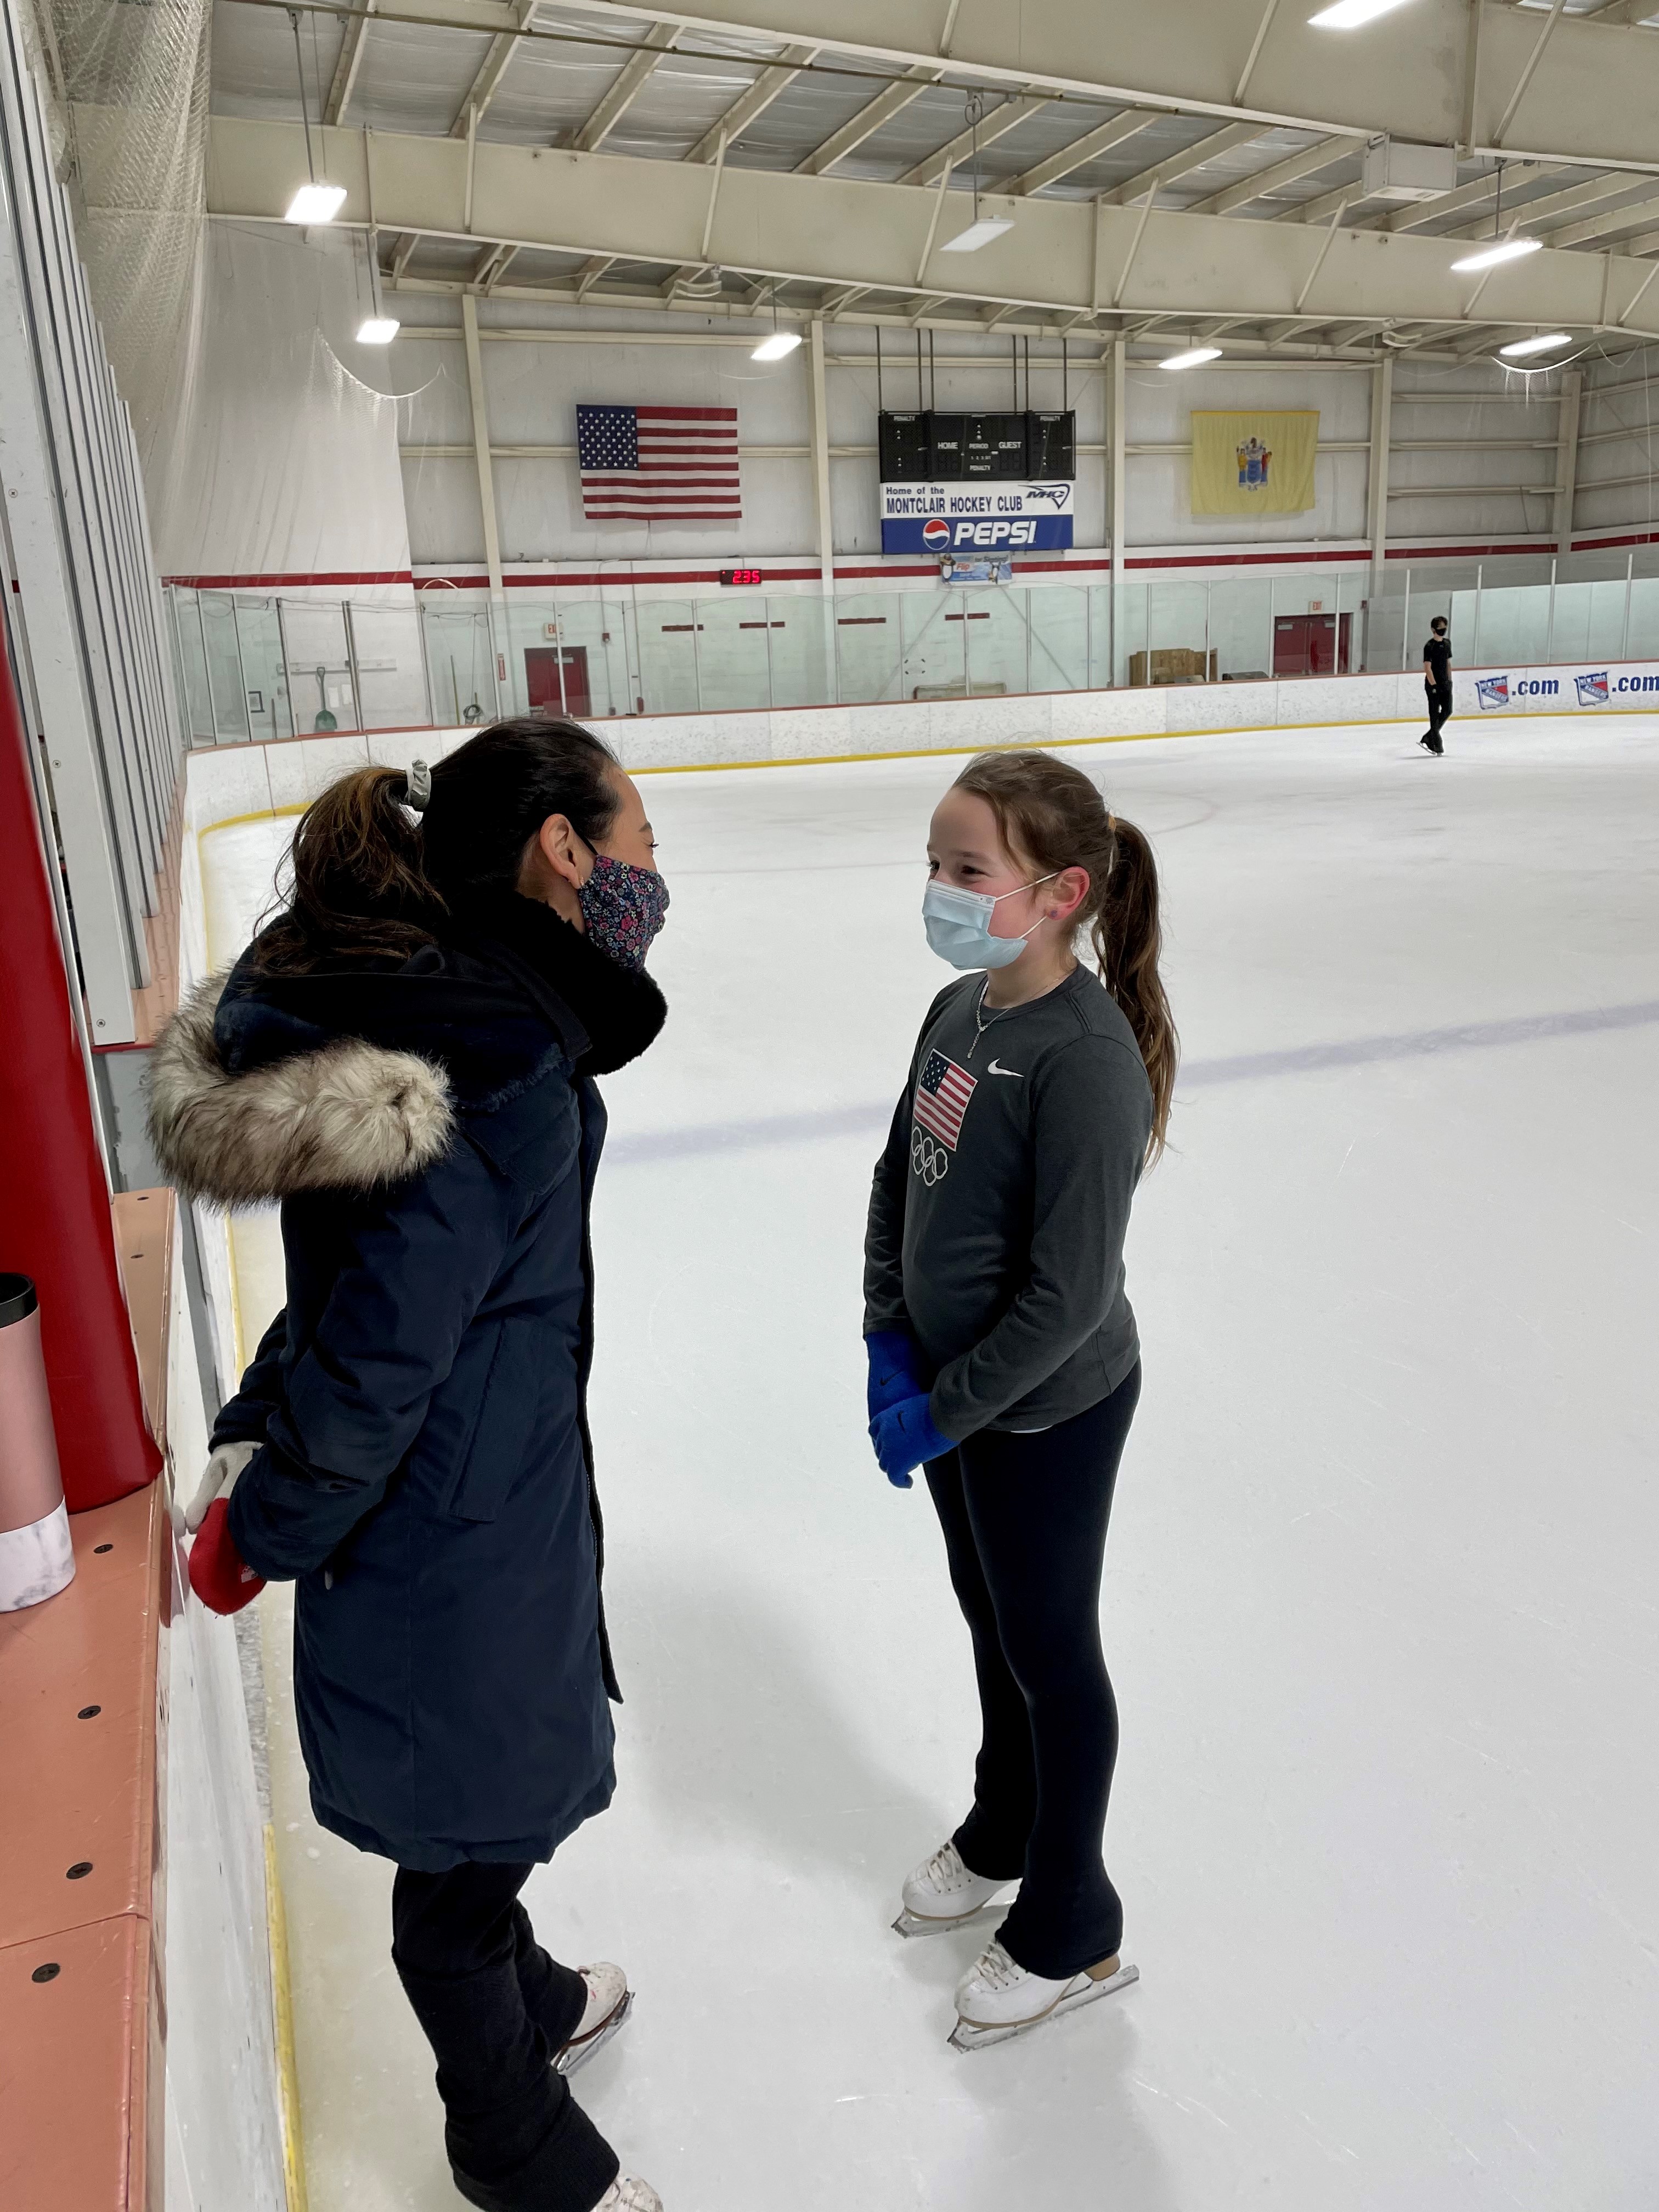
<svg viewBox="0 0 1659 2212"><path fill-rule="evenodd" d="M250 947L168 1022L150 1141L190 1199L261 1206L425 1175L462 1115L553 1060L619 1068L666 1020L648 975L529 898L480 900L398 967L270 973Z"/></svg>

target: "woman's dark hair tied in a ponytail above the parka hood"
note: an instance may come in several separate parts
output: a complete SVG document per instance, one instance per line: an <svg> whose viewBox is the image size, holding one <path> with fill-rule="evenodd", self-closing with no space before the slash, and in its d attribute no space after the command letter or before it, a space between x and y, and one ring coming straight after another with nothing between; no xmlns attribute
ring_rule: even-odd
<svg viewBox="0 0 1659 2212"><path fill-rule="evenodd" d="M407 960L469 896L518 889L542 823L562 814L597 845L622 805L617 759L575 721L498 721L425 770L356 768L299 821L283 911L259 964Z"/></svg>

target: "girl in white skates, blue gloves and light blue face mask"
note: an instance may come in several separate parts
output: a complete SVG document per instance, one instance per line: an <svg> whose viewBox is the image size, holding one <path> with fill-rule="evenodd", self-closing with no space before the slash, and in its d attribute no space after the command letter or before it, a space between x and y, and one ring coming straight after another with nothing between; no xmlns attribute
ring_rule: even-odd
<svg viewBox="0 0 1659 2212"><path fill-rule="evenodd" d="M876 1166L865 1340L876 1458L902 1489L927 1471L984 1725L973 1809L905 1882L898 1929L973 1924L1020 1882L956 1989L969 2051L1135 1978L1102 1865L1099 1577L1141 1387L1124 1230L1177 1040L1150 847L1079 770L980 754L927 863L927 940L969 973L929 1006Z"/></svg>

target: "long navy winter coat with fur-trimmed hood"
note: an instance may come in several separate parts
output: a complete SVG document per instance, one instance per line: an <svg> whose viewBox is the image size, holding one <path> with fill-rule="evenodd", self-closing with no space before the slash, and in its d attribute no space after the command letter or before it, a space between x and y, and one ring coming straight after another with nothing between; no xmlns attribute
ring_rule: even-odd
<svg viewBox="0 0 1659 2212"><path fill-rule="evenodd" d="M664 1020L531 900L451 936L310 975L252 947L179 1013L153 1097L186 1190L281 1199L288 1303L215 1427L261 1444L230 1533L299 1584L316 1818L425 1871L549 1858L615 1785L588 1071Z"/></svg>

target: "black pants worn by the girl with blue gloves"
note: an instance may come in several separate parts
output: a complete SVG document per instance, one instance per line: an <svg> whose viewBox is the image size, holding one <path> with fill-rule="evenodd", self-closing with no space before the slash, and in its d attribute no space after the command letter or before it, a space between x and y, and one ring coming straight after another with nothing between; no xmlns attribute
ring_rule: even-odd
<svg viewBox="0 0 1659 2212"><path fill-rule="evenodd" d="M1022 1880L1002 1944L1051 1980L1110 1958L1124 1907L1099 1845L1117 1703L1099 1648L1099 1573L1141 1369L1040 1436L982 1429L927 1469L951 1586L973 1635L984 1734L956 1847Z"/></svg>

